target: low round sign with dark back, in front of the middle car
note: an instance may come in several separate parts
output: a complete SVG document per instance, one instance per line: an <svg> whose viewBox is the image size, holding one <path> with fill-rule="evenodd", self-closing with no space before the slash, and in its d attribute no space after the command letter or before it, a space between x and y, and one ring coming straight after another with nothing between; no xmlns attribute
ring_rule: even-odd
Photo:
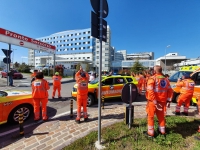
<svg viewBox="0 0 200 150"><path fill-rule="evenodd" d="M130 84L132 86L132 102L134 102L137 98L138 95L138 90L137 90L137 86L133 83L127 83L124 85L123 89L122 89L122 101L126 104L130 103Z"/></svg>

